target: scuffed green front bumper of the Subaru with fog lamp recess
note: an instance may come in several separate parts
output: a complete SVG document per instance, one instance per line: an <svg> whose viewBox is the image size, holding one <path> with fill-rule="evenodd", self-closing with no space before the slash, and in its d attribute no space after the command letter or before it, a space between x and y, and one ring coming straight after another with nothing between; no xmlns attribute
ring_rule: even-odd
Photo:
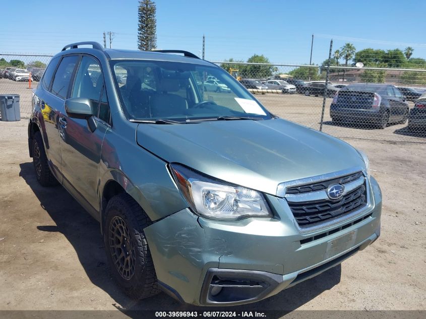
<svg viewBox="0 0 426 319"><path fill-rule="evenodd" d="M274 219L221 222L189 209L172 214L145 229L159 284L186 303L237 305L314 277L380 235L382 196L374 178L370 184L366 210L310 232L300 233L285 200L273 196L267 200ZM303 241L325 232L332 234Z"/></svg>

